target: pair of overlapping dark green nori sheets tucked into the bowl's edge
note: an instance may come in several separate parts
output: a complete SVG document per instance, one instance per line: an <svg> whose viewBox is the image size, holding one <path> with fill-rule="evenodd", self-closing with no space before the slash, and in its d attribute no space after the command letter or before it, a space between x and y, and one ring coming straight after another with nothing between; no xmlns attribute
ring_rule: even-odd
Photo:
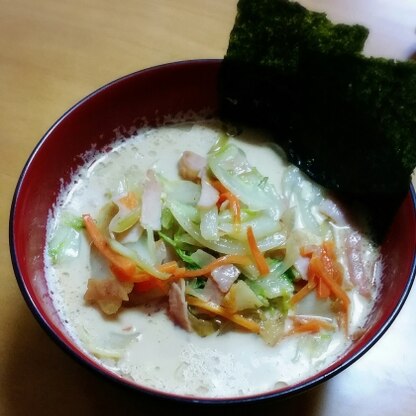
<svg viewBox="0 0 416 416"><path fill-rule="evenodd" d="M367 36L298 3L239 0L221 116L269 128L292 163L379 227L416 166L416 64L363 56Z"/></svg>

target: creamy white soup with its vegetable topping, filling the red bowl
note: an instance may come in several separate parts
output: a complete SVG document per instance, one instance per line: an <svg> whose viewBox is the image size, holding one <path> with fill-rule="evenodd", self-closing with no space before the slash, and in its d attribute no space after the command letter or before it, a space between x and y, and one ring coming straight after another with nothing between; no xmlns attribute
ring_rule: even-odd
<svg viewBox="0 0 416 416"><path fill-rule="evenodd" d="M139 385L196 397L291 385L343 354L377 294L377 249L268 143L204 121L86 157L51 211L45 252L82 349ZM224 256L235 262L203 269Z"/></svg>

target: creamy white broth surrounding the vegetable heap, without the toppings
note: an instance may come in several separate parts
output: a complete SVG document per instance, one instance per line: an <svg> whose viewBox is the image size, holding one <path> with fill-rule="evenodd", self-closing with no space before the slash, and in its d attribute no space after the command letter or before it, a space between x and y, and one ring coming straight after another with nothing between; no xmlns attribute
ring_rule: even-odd
<svg viewBox="0 0 416 416"><path fill-rule="evenodd" d="M49 219L48 240L65 213L88 213L96 218L100 209L130 182L142 183L148 169L178 179L177 164L183 152L206 156L218 132L217 124L209 122L148 129L116 142L110 152L96 154L62 190ZM245 151L249 163L269 178L278 193L283 192L287 163L267 145L267 136L244 131L231 142ZM303 185L302 195L308 189ZM323 221L322 214L314 215L318 223ZM304 225L297 218L296 227ZM335 240L342 240L346 229L334 226L330 232ZM376 250L368 244L362 250L367 272L375 275ZM200 337L175 325L165 303L124 307L115 316L106 317L84 300L92 273L91 247L84 233L76 251L73 257L69 253L57 264L45 254L55 306L81 348L139 385L196 397L247 396L296 383L331 364L350 345L339 329L330 337L319 333L286 336L275 346L269 346L257 334L238 330ZM348 278L347 259L341 255L339 261ZM104 263L101 271L94 266L96 275L108 274ZM375 293L366 298L354 285L347 286L351 302L349 334L354 334L364 327ZM299 302L296 313L333 315L329 301L318 301L313 292Z"/></svg>

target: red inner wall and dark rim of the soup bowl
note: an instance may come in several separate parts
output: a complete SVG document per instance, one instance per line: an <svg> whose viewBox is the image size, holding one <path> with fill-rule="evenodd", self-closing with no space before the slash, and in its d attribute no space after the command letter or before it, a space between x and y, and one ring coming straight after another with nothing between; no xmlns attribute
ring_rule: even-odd
<svg viewBox="0 0 416 416"><path fill-rule="evenodd" d="M156 397L198 403L238 403L284 398L310 389L343 371L365 354L398 315L415 277L416 197L413 187L398 209L381 246L379 295L362 335L331 365L294 385L225 398L174 394L135 383L110 371L72 338L54 306L45 276L48 215L62 186L84 163L91 148L111 149L113 141L144 126L178 116L215 117L219 109L221 60L170 63L118 79L81 100L43 136L19 178L10 214L10 250L21 292L35 318L72 357L126 388Z"/></svg>

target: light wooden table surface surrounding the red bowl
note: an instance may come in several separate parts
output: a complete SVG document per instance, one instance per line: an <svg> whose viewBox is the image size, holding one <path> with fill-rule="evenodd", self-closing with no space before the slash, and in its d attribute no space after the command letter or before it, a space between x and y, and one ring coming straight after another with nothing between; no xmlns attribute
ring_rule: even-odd
<svg viewBox="0 0 416 416"><path fill-rule="evenodd" d="M334 20L371 28L368 54L416 51L415 0L304 0ZM122 75L226 51L236 0L0 0L0 415L207 413L151 400L90 373L39 327L19 292L8 216L23 165L48 127L79 99ZM263 414L414 415L416 287L385 336L314 390L241 411ZM412 319L413 318L413 319ZM172 410L171 410L172 409ZM228 409L228 411L231 409ZM225 411L224 411L225 412Z"/></svg>

